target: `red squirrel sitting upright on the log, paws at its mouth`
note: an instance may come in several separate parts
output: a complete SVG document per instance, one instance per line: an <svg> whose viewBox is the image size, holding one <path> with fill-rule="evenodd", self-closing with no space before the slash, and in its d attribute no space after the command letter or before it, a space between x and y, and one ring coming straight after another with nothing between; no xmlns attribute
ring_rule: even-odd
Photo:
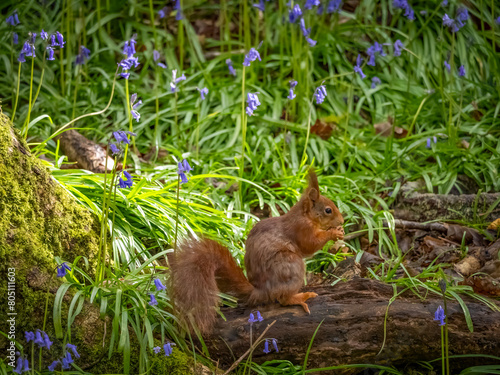
<svg viewBox="0 0 500 375"><path fill-rule="evenodd" d="M229 250L202 238L181 244L171 263L172 297L181 316L202 333L211 330L218 292L230 294L250 306L278 301L301 305L316 293L299 293L304 285L303 258L312 256L330 240L344 238L337 206L320 195L318 178L311 169L309 186L285 215L258 222L246 242L248 279Z"/></svg>

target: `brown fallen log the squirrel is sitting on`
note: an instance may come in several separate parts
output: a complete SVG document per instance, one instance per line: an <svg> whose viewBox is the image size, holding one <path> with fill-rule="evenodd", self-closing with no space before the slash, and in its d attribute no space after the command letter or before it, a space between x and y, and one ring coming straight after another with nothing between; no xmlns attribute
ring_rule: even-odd
<svg viewBox="0 0 500 375"><path fill-rule="evenodd" d="M388 309L386 341L382 349L385 314L394 295L391 285L357 278L335 286L309 286L306 290L318 294L308 301L311 315L305 314L300 306L276 304L259 308L264 321L254 323L253 337L257 338L276 320L266 338L277 339L280 351L264 354L261 344L252 360L262 363L283 359L301 364L314 331L321 323L309 353L308 369L356 363L404 365L441 355L441 330L438 322L433 321L437 307L443 305L439 295L427 294L426 299L421 300L406 291L397 297ZM469 331L460 305L448 300L450 355L498 355L500 303L495 302L497 311L494 311L473 298L464 295L462 298L469 309L474 331ZM222 308L222 312L227 321L218 319L213 334L205 337L205 343L211 358L217 358L219 365L227 368L250 346L248 317L251 309L244 306ZM478 363L500 364L500 361L484 358L451 361L455 369Z"/></svg>

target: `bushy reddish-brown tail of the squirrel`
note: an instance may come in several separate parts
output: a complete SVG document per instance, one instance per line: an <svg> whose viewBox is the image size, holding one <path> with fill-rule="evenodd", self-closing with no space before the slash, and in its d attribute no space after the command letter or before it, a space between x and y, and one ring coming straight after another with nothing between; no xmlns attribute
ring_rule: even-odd
<svg viewBox="0 0 500 375"><path fill-rule="evenodd" d="M204 238L182 243L171 262L173 300L181 317L200 332L209 332L216 319L217 293L245 298L253 290L229 250Z"/></svg>

